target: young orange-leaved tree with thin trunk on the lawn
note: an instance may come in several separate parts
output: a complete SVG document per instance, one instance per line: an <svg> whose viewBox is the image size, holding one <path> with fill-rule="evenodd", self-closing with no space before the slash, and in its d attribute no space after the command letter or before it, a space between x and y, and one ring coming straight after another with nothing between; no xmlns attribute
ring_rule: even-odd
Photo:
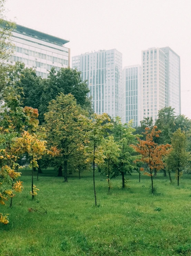
<svg viewBox="0 0 191 256"><path fill-rule="evenodd" d="M151 177L151 188L152 194L154 193L153 187L153 173L154 169L157 171L164 167L163 158L168 155L170 152L170 144L158 145L154 142L155 137L159 137L161 133L160 130L156 130L157 126L153 126L153 129L150 130L149 127L145 128L143 133L146 137L145 140L137 138L137 145L132 145L132 147L137 151L141 158L137 159L137 162L143 162L144 168L141 168L141 171L144 171L144 174Z"/></svg>

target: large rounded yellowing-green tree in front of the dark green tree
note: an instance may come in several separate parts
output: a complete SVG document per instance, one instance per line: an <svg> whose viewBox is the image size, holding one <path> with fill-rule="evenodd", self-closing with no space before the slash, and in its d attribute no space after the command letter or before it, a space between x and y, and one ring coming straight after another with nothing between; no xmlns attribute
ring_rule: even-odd
<svg viewBox="0 0 191 256"><path fill-rule="evenodd" d="M78 120L80 114L87 113L77 104L73 95L63 93L51 100L45 114L47 141L60 151L57 163L64 167L64 182L68 182L68 160L80 156L79 149L86 144L84 126Z"/></svg>

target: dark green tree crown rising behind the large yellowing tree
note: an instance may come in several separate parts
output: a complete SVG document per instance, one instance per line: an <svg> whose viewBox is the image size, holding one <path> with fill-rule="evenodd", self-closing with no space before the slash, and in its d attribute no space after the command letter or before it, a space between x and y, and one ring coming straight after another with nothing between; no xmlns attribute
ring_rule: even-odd
<svg viewBox="0 0 191 256"><path fill-rule="evenodd" d="M91 101L87 98L89 88L86 81L82 81L81 72L76 69L61 68L56 71L52 68L48 79L43 79L43 83L44 89L39 107L40 122L43 121L43 114L48 111L49 102L55 99L60 92L65 95L72 94L77 104L90 111Z"/></svg>

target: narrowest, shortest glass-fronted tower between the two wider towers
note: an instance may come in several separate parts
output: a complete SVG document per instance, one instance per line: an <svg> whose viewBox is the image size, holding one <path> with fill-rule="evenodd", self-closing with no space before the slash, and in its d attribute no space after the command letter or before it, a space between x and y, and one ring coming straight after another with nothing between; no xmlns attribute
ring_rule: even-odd
<svg viewBox="0 0 191 256"><path fill-rule="evenodd" d="M122 123L141 121L141 65L124 67L122 72Z"/></svg>

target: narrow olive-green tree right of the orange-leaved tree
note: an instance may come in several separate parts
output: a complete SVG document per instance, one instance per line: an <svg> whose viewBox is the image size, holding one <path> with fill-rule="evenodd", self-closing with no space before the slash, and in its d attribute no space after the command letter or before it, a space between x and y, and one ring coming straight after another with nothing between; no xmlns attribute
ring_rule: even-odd
<svg viewBox="0 0 191 256"><path fill-rule="evenodd" d="M172 136L172 151L170 152L166 165L169 171L175 171L176 178L179 186L179 180L182 175L183 168L187 165L190 158L189 153L186 151L187 139L184 131L179 128L173 133Z"/></svg>

